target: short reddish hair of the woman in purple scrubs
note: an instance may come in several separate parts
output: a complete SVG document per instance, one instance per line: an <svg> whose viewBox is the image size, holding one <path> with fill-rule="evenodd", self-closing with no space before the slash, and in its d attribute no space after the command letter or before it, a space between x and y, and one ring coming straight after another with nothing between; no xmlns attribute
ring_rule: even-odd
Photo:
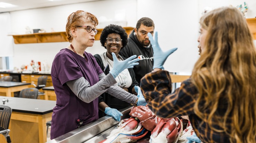
<svg viewBox="0 0 256 143"><path fill-rule="evenodd" d="M77 28L77 26L81 26L81 24L83 24L83 22L86 20L90 21L94 26L97 26L99 24L98 19L90 12L77 10L68 16L66 24L66 38L69 42L72 42L73 40L71 29Z"/></svg>

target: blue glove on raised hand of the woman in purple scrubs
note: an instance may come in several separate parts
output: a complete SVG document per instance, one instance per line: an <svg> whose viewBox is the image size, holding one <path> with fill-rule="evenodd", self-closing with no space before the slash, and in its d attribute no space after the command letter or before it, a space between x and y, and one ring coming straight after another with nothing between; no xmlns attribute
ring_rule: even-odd
<svg viewBox="0 0 256 143"><path fill-rule="evenodd" d="M139 63L135 63L139 61L139 58L136 58L136 55L133 55L124 61L118 61L115 53L112 53L112 57L113 57L114 65L113 65L113 69L109 73L111 73L114 78L116 78L124 69L133 68L133 66L139 64Z"/></svg>

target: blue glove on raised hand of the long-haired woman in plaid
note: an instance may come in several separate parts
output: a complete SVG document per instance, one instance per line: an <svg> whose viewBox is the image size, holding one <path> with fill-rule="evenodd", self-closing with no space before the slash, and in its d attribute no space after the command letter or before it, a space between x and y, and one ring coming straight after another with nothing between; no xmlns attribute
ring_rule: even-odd
<svg viewBox="0 0 256 143"><path fill-rule="evenodd" d="M174 51L177 50L177 48L173 48L171 50L168 50L166 52L163 52L158 44L158 37L157 37L157 32L155 34L155 40L153 39L153 36L151 33L148 32L148 37L149 41L152 44L152 48L154 51L154 68L161 68L164 69L163 65L164 62L166 61L167 57L171 55Z"/></svg>

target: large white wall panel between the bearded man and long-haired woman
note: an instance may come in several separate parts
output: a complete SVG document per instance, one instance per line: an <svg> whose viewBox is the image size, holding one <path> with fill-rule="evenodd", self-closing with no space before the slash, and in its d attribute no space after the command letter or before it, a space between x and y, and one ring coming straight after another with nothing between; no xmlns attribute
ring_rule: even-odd
<svg viewBox="0 0 256 143"><path fill-rule="evenodd" d="M198 59L198 0L139 0L138 18L149 17L155 23L163 51L177 47L167 58L169 72L191 72Z"/></svg>

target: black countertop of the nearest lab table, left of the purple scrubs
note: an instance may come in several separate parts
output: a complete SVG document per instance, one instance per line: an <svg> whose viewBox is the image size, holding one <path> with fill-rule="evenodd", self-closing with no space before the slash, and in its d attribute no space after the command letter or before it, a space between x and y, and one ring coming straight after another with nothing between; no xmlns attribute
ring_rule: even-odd
<svg viewBox="0 0 256 143"><path fill-rule="evenodd" d="M5 104L11 107L13 112L44 115L53 112L53 108L56 106L56 101L6 96L0 96L0 105L3 104L3 99L12 100L6 101Z"/></svg>

